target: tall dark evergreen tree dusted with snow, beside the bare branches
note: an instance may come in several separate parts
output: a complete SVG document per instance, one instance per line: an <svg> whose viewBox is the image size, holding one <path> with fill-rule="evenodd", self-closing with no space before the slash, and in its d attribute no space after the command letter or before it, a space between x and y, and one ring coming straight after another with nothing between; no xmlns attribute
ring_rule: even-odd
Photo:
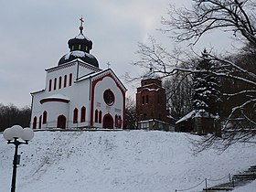
<svg viewBox="0 0 256 192"><path fill-rule="evenodd" d="M213 74L216 69L215 63L209 59L205 49L202 59L198 60L196 72L193 76L192 104L200 115L219 114L219 79Z"/></svg>

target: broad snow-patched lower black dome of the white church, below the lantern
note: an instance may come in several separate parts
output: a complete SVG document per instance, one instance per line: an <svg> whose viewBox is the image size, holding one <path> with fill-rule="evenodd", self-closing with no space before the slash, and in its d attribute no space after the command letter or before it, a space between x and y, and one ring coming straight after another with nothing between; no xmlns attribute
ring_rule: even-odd
<svg viewBox="0 0 256 192"><path fill-rule="evenodd" d="M90 53L86 53L81 50L74 50L64 55L61 59L59 59L58 65L63 65L74 59L81 59L84 62L89 63L96 68L99 68L98 60L94 56L92 56Z"/></svg>

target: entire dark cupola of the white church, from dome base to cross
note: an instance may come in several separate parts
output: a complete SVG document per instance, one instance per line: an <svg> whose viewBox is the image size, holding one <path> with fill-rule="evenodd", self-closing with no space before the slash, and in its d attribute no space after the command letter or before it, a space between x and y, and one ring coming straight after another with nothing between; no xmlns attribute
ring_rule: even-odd
<svg viewBox="0 0 256 192"><path fill-rule="evenodd" d="M92 41L85 37L82 33L83 27L82 17L80 18L80 34L77 37L71 38L68 41L69 53L59 59L59 65L63 65L74 59L81 59L84 62L99 68L98 60L90 54Z"/></svg>

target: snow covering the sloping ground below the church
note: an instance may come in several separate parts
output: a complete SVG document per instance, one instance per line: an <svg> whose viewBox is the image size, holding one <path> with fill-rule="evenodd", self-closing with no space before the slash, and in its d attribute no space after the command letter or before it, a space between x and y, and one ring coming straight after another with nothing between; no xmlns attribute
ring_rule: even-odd
<svg viewBox="0 0 256 192"><path fill-rule="evenodd" d="M20 145L19 192L175 192L200 191L205 178L219 182L256 164L253 145L234 144L218 155L213 149L197 156L187 133L37 132ZM14 145L0 134L0 191L9 191ZM218 182L208 181L208 186ZM252 185L255 188L256 183ZM241 190L238 190L241 191ZM237 192L238 192L237 191ZM243 191L243 190L242 190ZM250 190L248 190L250 191Z"/></svg>

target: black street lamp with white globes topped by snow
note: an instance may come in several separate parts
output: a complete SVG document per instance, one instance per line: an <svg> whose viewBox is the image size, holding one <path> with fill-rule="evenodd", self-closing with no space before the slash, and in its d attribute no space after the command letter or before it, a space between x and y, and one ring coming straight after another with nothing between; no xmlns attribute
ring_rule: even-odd
<svg viewBox="0 0 256 192"><path fill-rule="evenodd" d="M8 141L7 144L15 144L16 150L15 150L15 156L14 156L14 162L13 162L13 176L12 176L12 187L11 192L16 191L16 165L18 161L18 155L17 155L17 149L19 144L28 144L28 141L30 141L34 137L34 132L29 127L22 128L20 125L14 125L11 128L5 129L4 132L4 138ZM24 140L24 142L19 141L19 139Z"/></svg>

